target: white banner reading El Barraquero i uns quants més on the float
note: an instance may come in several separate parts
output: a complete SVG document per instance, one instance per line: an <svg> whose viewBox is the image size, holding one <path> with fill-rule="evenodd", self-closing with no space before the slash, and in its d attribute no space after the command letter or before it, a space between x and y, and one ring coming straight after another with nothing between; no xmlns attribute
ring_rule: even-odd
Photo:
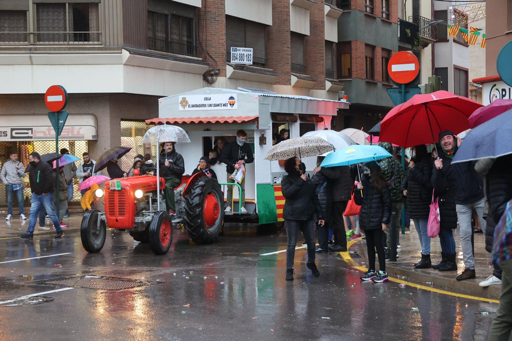
<svg viewBox="0 0 512 341"><path fill-rule="evenodd" d="M180 111L238 109L237 94L184 95L178 99Z"/></svg>

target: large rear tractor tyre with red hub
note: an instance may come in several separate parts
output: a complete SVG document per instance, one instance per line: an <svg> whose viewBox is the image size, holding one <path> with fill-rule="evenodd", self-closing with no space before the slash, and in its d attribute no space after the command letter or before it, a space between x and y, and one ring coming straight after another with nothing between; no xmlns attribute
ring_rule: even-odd
<svg viewBox="0 0 512 341"><path fill-rule="evenodd" d="M217 180L200 177L185 193L185 228L197 244L216 240L224 221L224 194Z"/></svg>

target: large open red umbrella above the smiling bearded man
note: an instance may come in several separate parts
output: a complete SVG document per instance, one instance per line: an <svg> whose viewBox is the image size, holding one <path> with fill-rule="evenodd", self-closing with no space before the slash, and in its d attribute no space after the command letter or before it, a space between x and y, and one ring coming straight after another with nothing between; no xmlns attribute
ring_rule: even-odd
<svg viewBox="0 0 512 341"><path fill-rule="evenodd" d="M467 118L482 104L447 91L414 95L395 106L380 123L380 141L408 148L438 142L444 130L458 134L469 129Z"/></svg>

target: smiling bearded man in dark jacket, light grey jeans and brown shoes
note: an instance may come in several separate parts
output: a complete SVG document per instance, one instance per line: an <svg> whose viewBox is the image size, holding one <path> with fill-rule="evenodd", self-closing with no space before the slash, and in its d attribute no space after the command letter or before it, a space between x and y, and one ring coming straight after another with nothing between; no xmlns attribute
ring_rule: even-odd
<svg viewBox="0 0 512 341"><path fill-rule="evenodd" d="M485 230L485 220L483 219L484 194L483 178L475 171L475 161L467 161L452 164L452 159L457 153L461 143L460 139L451 131L445 130L439 133L439 142L441 151L439 159L434 161L435 168L432 174L432 182L436 184L446 179L450 187L454 190L454 199L457 207L457 218L460 226L460 245L462 247L462 256L465 269L457 276L457 281L474 279L475 257L471 245L471 218L473 210L477 212L478 218Z"/></svg>

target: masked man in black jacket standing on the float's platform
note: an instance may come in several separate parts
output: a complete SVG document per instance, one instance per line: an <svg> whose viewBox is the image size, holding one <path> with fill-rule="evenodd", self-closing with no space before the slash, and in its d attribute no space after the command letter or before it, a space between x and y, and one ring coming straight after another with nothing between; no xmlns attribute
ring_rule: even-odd
<svg viewBox="0 0 512 341"><path fill-rule="evenodd" d="M252 155L251 147L245 141L247 140L247 133L243 130L237 132L237 140L228 143L222 150L221 162L226 164L227 182L234 183L234 180L230 178L235 169L240 169L242 165L246 163L254 162L254 156ZM227 188L227 205L226 212L231 212L233 207L233 187L228 186ZM245 177L240 183L242 187L242 194L240 196L240 213L247 213L245 209Z"/></svg>

